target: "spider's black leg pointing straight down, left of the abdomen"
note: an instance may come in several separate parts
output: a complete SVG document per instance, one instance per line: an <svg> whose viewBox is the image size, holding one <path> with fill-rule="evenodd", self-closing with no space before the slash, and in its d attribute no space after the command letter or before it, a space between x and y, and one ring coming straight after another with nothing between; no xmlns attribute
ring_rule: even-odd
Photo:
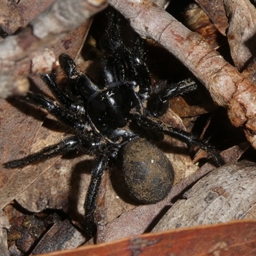
<svg viewBox="0 0 256 256"><path fill-rule="evenodd" d="M106 166L108 164L108 156L99 154L93 162L91 182L87 191L86 200L84 202L85 209L85 232L86 235L92 237L97 227L95 225L93 213L96 208L97 196L100 187L100 181Z"/></svg>

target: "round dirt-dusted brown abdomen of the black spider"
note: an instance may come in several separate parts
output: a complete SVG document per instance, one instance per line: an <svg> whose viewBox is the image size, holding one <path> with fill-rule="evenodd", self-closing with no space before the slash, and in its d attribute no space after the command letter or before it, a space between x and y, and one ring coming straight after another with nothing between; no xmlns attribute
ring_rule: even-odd
<svg viewBox="0 0 256 256"><path fill-rule="evenodd" d="M154 204L168 195L174 172L161 150L138 138L125 145L123 157L124 180L132 198Z"/></svg>

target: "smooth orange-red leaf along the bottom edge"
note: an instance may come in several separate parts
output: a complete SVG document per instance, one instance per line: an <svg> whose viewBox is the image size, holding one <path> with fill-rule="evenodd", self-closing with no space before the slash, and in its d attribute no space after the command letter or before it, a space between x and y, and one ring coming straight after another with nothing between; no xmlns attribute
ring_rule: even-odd
<svg viewBox="0 0 256 256"><path fill-rule="evenodd" d="M225 255L253 256L256 248L256 222L230 223L182 228L129 237L111 243L58 252L59 256L128 255ZM42 256L54 256L49 253Z"/></svg>

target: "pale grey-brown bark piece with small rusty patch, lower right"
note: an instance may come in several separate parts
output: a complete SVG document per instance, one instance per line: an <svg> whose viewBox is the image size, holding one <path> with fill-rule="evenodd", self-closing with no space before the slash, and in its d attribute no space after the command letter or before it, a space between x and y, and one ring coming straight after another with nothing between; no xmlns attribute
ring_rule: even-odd
<svg viewBox="0 0 256 256"><path fill-rule="evenodd" d="M243 220L256 203L256 164L225 164L184 194L152 232Z"/></svg>

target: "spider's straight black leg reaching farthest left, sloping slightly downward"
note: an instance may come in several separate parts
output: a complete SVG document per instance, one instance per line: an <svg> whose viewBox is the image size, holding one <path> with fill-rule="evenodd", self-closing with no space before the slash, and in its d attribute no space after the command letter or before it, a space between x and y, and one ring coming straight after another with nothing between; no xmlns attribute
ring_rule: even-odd
<svg viewBox="0 0 256 256"><path fill-rule="evenodd" d="M34 154L31 154L27 157L24 157L22 159L17 159L10 161L8 163L4 163L4 168L18 168L22 167L28 164L31 164L35 161L38 161L40 159L47 159L54 156L58 156L61 154L65 154L66 152L70 150L74 150L77 147L81 146L82 142L81 140L76 137L68 137L64 140L60 141L59 143L56 143L54 145L51 145L49 147L45 147L39 152L36 152Z"/></svg>

